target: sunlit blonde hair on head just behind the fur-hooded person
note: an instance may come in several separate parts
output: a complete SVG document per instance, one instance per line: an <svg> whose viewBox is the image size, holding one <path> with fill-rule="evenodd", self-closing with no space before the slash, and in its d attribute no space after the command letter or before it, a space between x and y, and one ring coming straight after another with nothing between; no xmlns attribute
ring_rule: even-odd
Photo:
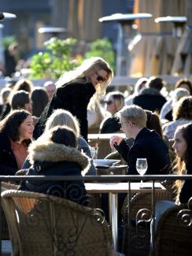
<svg viewBox="0 0 192 256"><path fill-rule="evenodd" d="M54 110L54 112L46 121L45 132L49 131L51 128L54 128L57 125L66 125L73 129L77 137L80 135L79 121L68 110Z"/></svg>

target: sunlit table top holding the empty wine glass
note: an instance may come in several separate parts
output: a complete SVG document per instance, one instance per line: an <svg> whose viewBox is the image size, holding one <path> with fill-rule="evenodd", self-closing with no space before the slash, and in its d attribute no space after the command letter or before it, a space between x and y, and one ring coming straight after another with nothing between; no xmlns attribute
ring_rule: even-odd
<svg viewBox="0 0 192 256"><path fill-rule="evenodd" d="M152 189L152 182L143 183L143 188L140 188L140 182L132 182L130 184L131 192L150 192ZM86 190L89 193L127 193L128 184L125 183L85 183ZM164 186L159 182L155 183L156 191L166 191Z"/></svg>

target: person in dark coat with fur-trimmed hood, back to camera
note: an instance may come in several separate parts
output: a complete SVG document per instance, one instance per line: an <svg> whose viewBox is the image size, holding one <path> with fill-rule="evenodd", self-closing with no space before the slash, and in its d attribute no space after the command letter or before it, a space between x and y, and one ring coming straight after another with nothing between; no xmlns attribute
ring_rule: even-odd
<svg viewBox="0 0 192 256"><path fill-rule="evenodd" d="M81 176L90 166L87 156L77 149L75 132L66 126L56 126L31 143L29 160L27 175ZM83 205L87 202L82 180L25 180L19 189L56 195Z"/></svg>

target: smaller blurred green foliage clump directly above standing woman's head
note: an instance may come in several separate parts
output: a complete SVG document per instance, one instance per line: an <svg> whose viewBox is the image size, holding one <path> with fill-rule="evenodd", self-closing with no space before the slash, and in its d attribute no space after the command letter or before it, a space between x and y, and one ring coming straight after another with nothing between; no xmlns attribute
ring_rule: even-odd
<svg viewBox="0 0 192 256"><path fill-rule="evenodd" d="M115 53L113 50L112 43L109 39L97 39L93 43L90 43L90 51L85 54L85 58L90 57L101 57L104 58L110 65L110 67L115 69Z"/></svg>

